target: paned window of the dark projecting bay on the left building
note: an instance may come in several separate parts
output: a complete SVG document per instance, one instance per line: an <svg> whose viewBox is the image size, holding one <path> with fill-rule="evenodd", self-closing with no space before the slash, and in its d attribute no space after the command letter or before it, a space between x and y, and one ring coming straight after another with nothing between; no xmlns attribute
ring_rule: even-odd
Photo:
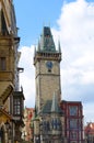
<svg viewBox="0 0 94 143"><path fill-rule="evenodd" d="M20 98L14 98L14 114L21 114L21 101Z"/></svg>

